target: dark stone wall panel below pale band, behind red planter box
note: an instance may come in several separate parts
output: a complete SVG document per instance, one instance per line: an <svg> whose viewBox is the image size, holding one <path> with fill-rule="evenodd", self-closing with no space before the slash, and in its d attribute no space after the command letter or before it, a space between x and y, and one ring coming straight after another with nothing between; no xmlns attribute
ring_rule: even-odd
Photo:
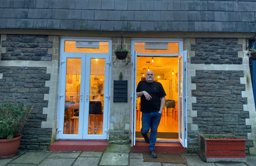
<svg viewBox="0 0 256 166"><path fill-rule="evenodd" d="M192 96L196 103L192 104L197 111L193 123L198 124L202 134L234 134L236 138L247 138L251 126L245 124L249 112L243 111L247 98L242 97L245 85L240 83L244 77L243 71L196 70L196 77L191 77L191 83L196 84ZM188 132L190 140L197 139L197 134ZM252 140L246 143L253 146Z"/></svg>

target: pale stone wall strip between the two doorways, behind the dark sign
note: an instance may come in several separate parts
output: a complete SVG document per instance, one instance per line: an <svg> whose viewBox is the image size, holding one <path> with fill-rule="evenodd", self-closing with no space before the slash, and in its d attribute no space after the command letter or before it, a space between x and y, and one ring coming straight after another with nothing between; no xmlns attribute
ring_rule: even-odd
<svg viewBox="0 0 256 166"><path fill-rule="evenodd" d="M125 60L116 60L115 49L121 45L121 38L112 38L112 64L111 64L111 94L110 96L110 123L109 144L126 144L130 140L130 92L131 92L131 52ZM123 38L123 47L131 50L131 38ZM127 102L114 102L114 80L119 80L122 73L123 80L128 81Z"/></svg>

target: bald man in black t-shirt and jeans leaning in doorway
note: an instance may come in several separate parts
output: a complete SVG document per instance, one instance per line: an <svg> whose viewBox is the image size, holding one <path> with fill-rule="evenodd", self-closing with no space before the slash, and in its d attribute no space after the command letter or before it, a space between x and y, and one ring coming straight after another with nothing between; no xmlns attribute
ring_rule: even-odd
<svg viewBox="0 0 256 166"><path fill-rule="evenodd" d="M137 96L141 97L140 111L142 112L141 135L149 145L149 154L156 158L155 144L157 137L157 128L161 120L165 104L165 92L160 82L154 81L154 72L146 72L146 81L140 81L137 89ZM150 128L150 138L148 131Z"/></svg>

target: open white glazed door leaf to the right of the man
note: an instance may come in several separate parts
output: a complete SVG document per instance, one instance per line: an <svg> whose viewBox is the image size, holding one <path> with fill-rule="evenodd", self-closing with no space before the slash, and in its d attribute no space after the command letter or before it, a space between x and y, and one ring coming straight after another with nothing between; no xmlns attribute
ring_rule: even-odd
<svg viewBox="0 0 256 166"><path fill-rule="evenodd" d="M187 147L187 50L179 55L179 142Z"/></svg>

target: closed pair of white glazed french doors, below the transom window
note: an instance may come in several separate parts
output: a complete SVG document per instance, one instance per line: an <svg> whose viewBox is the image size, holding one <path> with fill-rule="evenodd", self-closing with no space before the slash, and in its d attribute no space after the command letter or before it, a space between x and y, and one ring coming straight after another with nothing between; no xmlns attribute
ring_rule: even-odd
<svg viewBox="0 0 256 166"><path fill-rule="evenodd" d="M109 54L62 53L57 139L107 139Z"/></svg>

